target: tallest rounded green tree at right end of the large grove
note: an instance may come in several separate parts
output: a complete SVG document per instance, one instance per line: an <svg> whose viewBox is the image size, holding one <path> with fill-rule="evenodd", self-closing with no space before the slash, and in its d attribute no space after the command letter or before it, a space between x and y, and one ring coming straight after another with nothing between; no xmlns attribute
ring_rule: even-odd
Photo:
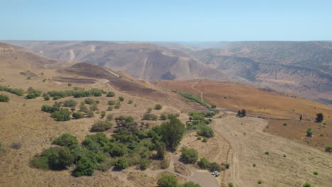
<svg viewBox="0 0 332 187"><path fill-rule="evenodd" d="M160 135L168 149L176 149L181 142L185 132L185 126L177 118L171 118L170 121L160 125Z"/></svg>

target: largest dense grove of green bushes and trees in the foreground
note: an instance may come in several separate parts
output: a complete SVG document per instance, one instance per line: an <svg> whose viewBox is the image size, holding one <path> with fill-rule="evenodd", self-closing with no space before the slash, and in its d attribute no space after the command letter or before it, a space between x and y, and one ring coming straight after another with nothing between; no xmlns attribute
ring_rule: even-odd
<svg viewBox="0 0 332 187"><path fill-rule="evenodd" d="M112 166L125 169L138 165L146 169L151 159L163 159L167 148L175 149L185 131L184 124L177 118L171 118L152 130L138 130L131 116L119 116L115 120L118 128L111 138L97 132L87 135L79 146L77 137L64 133L52 142L60 147L46 149L31 163L40 169L54 170L76 164L74 176L90 176L94 169L106 171Z"/></svg>

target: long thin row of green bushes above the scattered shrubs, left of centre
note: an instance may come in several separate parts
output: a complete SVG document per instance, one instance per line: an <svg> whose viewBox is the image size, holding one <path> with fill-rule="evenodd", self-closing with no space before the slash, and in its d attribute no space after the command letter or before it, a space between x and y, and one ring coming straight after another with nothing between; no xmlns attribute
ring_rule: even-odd
<svg viewBox="0 0 332 187"><path fill-rule="evenodd" d="M91 96L102 96L106 94L106 91L102 89L90 89L84 90L66 90L66 91L48 91L48 96L53 97L53 99L65 98L74 96L74 98L91 97Z"/></svg>

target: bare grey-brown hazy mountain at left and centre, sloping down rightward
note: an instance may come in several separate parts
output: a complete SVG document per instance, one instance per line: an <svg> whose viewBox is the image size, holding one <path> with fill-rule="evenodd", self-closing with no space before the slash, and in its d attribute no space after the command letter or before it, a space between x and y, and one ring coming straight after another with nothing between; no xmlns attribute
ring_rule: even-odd
<svg viewBox="0 0 332 187"><path fill-rule="evenodd" d="M6 41L40 55L68 62L89 62L123 71L138 79L237 80L219 69L206 67L188 52L146 42ZM206 76L208 75L208 76Z"/></svg>

